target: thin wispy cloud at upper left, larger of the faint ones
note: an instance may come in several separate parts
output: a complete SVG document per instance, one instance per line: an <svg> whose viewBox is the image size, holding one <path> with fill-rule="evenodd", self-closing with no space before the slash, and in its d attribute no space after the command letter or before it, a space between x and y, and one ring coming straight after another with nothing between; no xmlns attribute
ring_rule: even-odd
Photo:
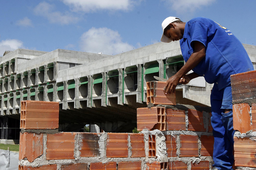
<svg viewBox="0 0 256 170"><path fill-rule="evenodd" d="M39 3L35 8L36 15L46 17L51 23L60 23L67 25L70 23L76 23L79 18L73 16L70 12L54 11L54 5L47 2Z"/></svg>

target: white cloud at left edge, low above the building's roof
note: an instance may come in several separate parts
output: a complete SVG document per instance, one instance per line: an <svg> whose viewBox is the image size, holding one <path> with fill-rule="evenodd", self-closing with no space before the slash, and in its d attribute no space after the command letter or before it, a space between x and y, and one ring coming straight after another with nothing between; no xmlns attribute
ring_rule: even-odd
<svg viewBox="0 0 256 170"><path fill-rule="evenodd" d="M0 56L3 56L4 52L13 51L15 49L21 48L23 45L22 41L16 39L7 39L0 41Z"/></svg>

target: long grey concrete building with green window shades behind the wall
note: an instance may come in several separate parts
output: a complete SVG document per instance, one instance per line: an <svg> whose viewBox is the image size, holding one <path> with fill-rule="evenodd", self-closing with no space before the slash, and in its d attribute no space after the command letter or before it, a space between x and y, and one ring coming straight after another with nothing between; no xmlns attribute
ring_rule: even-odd
<svg viewBox="0 0 256 170"><path fill-rule="evenodd" d="M243 44L256 64L256 46ZM1 60L1 59L0 59ZM131 132L136 109L146 106L146 82L168 79L184 60L179 42L157 43L110 56L57 49L17 49L0 64L0 139L19 139L20 101L60 103L59 131L79 132L96 124L97 132ZM212 84L198 77L178 85L180 104L210 106Z"/></svg>

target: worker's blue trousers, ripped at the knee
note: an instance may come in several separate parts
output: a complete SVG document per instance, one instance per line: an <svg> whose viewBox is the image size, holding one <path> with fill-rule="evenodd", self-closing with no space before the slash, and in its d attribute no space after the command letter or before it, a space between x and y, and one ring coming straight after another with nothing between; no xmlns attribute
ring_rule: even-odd
<svg viewBox="0 0 256 170"><path fill-rule="evenodd" d="M213 160L218 169L232 169L234 163L233 147L233 111L224 113L225 109L232 109L231 85L218 90L216 85L211 92L211 125L214 136Z"/></svg>

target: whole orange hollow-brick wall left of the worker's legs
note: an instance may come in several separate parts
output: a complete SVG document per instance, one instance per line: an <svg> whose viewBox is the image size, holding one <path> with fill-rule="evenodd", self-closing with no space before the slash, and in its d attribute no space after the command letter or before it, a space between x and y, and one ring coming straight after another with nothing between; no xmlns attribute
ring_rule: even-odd
<svg viewBox="0 0 256 170"><path fill-rule="evenodd" d="M161 99L176 104L175 95ZM209 108L149 103L137 110L138 134L58 132L58 102L22 101L21 109L20 170L211 169Z"/></svg>

